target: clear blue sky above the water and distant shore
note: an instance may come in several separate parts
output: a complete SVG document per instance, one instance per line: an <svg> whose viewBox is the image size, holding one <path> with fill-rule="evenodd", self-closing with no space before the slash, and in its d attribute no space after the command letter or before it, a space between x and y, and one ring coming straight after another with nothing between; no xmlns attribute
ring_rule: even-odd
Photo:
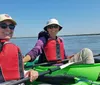
<svg viewBox="0 0 100 85"><path fill-rule="evenodd" d="M17 22L15 37L37 36L47 21L56 18L58 35L100 33L100 0L0 0L0 14Z"/></svg>

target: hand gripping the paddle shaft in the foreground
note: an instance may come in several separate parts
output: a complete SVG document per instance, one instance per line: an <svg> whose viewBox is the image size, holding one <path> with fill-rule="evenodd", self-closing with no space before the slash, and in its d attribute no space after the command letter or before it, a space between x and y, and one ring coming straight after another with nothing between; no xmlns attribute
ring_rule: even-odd
<svg viewBox="0 0 100 85"><path fill-rule="evenodd" d="M39 76L38 72L32 69L26 72L25 74L25 77L30 77L30 82L36 80L38 76Z"/></svg>

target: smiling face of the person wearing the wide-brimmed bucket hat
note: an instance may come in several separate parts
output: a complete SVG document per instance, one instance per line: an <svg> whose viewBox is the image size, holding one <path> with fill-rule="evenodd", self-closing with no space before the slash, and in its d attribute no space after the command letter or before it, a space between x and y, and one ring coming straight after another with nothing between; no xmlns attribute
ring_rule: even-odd
<svg viewBox="0 0 100 85"><path fill-rule="evenodd" d="M60 27L56 24L47 26L47 31L51 36L56 36L59 32Z"/></svg>

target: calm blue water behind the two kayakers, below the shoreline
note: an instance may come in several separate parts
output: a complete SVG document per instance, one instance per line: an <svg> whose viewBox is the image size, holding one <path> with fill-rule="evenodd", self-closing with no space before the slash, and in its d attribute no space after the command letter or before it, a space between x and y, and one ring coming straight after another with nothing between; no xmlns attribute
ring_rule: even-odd
<svg viewBox="0 0 100 85"><path fill-rule="evenodd" d="M65 51L68 55L77 53L82 48L90 48L94 54L100 53L100 35L92 36L67 36L63 37L65 44ZM34 47L37 38L17 38L11 41L17 44L22 54L25 55Z"/></svg>

